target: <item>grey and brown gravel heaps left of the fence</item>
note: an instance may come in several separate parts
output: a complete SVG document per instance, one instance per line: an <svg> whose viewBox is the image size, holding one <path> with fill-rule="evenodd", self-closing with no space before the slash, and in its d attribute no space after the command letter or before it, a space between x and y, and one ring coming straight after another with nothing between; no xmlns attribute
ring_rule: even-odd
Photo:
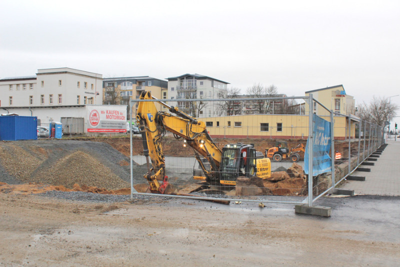
<svg viewBox="0 0 400 267"><path fill-rule="evenodd" d="M134 163L133 182L143 183L144 168ZM110 145L74 140L0 142L0 182L64 185L108 190L129 187L129 158Z"/></svg>

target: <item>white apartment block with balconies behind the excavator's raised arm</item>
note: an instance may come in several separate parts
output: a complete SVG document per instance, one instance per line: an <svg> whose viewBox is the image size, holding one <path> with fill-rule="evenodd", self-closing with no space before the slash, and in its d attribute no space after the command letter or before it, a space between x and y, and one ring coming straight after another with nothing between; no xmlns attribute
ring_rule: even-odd
<svg viewBox="0 0 400 267"><path fill-rule="evenodd" d="M177 100L170 105L177 106L183 112L198 118L221 115L218 108L220 102L204 102L200 108L198 106L194 108L191 102L179 101L179 99L218 99L220 95L226 95L226 87L229 83L199 74L184 74L167 78L167 80L168 98Z"/></svg>

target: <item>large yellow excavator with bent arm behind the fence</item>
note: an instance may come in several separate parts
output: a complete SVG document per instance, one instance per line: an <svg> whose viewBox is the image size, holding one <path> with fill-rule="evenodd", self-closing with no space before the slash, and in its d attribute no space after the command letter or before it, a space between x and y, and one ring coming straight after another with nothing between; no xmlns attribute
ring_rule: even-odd
<svg viewBox="0 0 400 267"><path fill-rule="evenodd" d="M136 115L143 154L146 157L147 173L144 174L144 178L149 183L149 191L161 194L176 193L165 175L161 140L166 132L171 132L178 140L182 139L183 146L188 145L193 149L203 173L193 178L205 180L208 185L234 186L239 176L270 176L270 160L256 159L253 145L228 144L221 151L209 136L204 122L161 101L156 102L169 112L157 111L155 101L145 101L151 99L156 98L152 97L150 92L141 93ZM202 159L208 161L209 167L205 167Z"/></svg>

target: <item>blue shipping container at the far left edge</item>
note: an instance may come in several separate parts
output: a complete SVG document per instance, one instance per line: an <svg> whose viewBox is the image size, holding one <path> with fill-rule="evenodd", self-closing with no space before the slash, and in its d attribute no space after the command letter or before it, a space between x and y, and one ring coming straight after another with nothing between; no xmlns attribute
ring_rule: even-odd
<svg viewBox="0 0 400 267"><path fill-rule="evenodd" d="M37 117L0 116L0 140L36 140Z"/></svg>

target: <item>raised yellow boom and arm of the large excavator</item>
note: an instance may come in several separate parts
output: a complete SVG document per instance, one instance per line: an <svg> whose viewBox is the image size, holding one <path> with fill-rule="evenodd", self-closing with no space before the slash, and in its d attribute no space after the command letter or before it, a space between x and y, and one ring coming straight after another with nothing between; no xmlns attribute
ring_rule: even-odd
<svg viewBox="0 0 400 267"><path fill-rule="evenodd" d="M150 92L142 92L140 100L156 99ZM147 173L144 178L149 182L151 192L165 193L167 176L165 175L165 158L162 152L161 140L165 132L173 133L176 139L183 139L195 152L195 156L209 183L219 181L219 164L221 150L209 136L205 123L180 111L177 107L169 106L164 102L157 103L169 111L157 111L154 102L140 101L137 108L136 120L139 123L143 142L143 152L146 157ZM175 114L175 115L173 115ZM206 170L200 160L200 155L207 158L211 168ZM151 167L149 159L151 159ZM162 184L159 183L162 181Z"/></svg>

